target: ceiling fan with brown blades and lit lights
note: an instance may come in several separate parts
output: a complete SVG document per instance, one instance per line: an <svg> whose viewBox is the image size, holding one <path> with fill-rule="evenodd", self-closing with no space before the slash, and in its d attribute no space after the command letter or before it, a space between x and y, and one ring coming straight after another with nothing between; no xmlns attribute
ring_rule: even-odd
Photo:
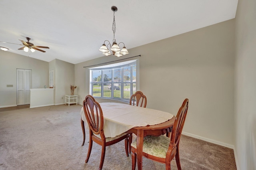
<svg viewBox="0 0 256 170"><path fill-rule="evenodd" d="M28 52L28 50L30 49L31 52L34 52L34 51L38 50L38 51L41 51L41 52L45 53L46 51L44 51L42 49L39 49L39 48L48 48L49 49L49 47L38 46L38 45L34 45L33 43L29 42L29 40L31 40L31 38L26 37L26 39L27 39L27 42L25 42L23 40L20 40L22 42L22 44L18 44L18 43L12 43L12 44L24 45L24 47L21 47L19 49L23 49L26 52ZM9 42L3 42L3 43L9 43ZM6 48L6 47L3 47L3 48L8 50L8 48ZM7 51L7 50L4 50L4 51Z"/></svg>

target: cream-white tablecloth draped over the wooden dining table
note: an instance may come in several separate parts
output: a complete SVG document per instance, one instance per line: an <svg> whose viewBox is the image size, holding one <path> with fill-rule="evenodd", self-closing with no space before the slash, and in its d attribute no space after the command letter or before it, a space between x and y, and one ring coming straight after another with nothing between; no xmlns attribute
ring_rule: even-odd
<svg viewBox="0 0 256 170"><path fill-rule="evenodd" d="M100 103L100 106L104 116L103 130L106 138L115 137L133 127L157 125L173 117L167 112L122 103ZM87 123L83 107L80 115Z"/></svg>

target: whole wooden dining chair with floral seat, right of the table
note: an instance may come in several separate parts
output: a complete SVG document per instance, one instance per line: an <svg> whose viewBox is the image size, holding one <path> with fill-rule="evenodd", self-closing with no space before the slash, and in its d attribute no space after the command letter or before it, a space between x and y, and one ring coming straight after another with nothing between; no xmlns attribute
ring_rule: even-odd
<svg viewBox="0 0 256 170"><path fill-rule="evenodd" d="M179 144L182 128L188 112L188 99L185 99L180 107L172 127L171 138L167 136L145 136L143 142L142 156L164 163L165 169L171 169L171 161L175 157L178 170L181 170ZM132 142L132 170L136 167L137 139Z"/></svg>

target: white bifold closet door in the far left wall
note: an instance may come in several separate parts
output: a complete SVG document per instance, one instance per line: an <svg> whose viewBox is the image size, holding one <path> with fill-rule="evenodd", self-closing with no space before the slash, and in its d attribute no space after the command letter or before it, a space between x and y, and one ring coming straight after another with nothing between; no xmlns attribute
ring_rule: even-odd
<svg viewBox="0 0 256 170"><path fill-rule="evenodd" d="M17 105L30 104L32 70L17 69Z"/></svg>

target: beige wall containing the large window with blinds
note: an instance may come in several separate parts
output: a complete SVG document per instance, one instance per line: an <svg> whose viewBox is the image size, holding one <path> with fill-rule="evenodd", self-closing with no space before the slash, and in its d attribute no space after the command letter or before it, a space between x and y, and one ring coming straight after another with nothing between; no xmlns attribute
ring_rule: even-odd
<svg viewBox="0 0 256 170"><path fill-rule="evenodd" d="M140 59L140 90L147 96L147 107L176 115L188 98L190 106L183 131L234 146L234 20L129 52L125 57L141 55L136 58ZM116 59L121 57L111 55L75 65L80 99L89 94L89 72L84 66Z"/></svg>

